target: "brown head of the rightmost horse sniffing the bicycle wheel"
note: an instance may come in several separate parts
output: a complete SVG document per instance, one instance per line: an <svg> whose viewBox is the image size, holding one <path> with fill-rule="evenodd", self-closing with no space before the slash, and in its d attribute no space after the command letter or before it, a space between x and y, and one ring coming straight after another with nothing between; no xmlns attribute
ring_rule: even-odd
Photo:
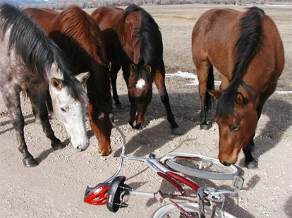
<svg viewBox="0 0 292 218"><path fill-rule="evenodd" d="M209 93L219 99L223 92L212 90ZM219 128L218 158L222 164L230 166L236 163L241 148L249 145L259 117L253 100L243 95L243 92L236 92L233 97L233 114L219 116L217 112L218 107L215 116Z"/></svg>

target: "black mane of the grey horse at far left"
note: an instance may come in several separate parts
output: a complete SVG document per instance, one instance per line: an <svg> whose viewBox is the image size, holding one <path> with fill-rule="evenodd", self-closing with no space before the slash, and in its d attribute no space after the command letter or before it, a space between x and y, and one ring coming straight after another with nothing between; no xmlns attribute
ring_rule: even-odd
<svg viewBox="0 0 292 218"><path fill-rule="evenodd" d="M80 85L76 85L79 82L74 77L77 73L71 61L44 34L35 20L10 4L0 5L0 19L1 40L4 40L6 31L11 28L8 51L14 49L20 63L23 63L29 71L41 73L46 78L52 63L55 62L63 74L63 85L68 87L68 92L74 99L81 99L82 92L80 92Z"/></svg>

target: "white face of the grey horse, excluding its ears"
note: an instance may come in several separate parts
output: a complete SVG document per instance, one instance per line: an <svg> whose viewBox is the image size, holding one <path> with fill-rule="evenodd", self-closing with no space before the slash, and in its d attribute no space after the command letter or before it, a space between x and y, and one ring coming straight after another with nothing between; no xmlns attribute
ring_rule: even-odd
<svg viewBox="0 0 292 218"><path fill-rule="evenodd" d="M82 84L79 83L82 87ZM83 88L81 89L83 90ZM77 150L85 150L89 145L85 126L85 111L87 106L87 95L81 93L83 99L76 101L68 93L67 87L54 87L49 83L49 91L53 102L56 119L61 121L68 134L71 136L71 144Z"/></svg>

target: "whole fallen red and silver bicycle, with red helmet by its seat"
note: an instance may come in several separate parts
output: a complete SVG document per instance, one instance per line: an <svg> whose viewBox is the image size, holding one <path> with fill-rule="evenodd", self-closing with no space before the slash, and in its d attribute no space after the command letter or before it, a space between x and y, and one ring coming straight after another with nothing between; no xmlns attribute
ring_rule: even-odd
<svg viewBox="0 0 292 218"><path fill-rule="evenodd" d="M129 157L125 155L126 138L121 129L114 123L113 114L109 115L112 125L121 134L123 146L120 155L120 162L116 173L95 187L87 186L85 190L84 202L92 205L107 204L111 212L117 212L122 207L128 207L123 198L130 194L151 195L169 204L159 207L153 212L152 218L170 217L170 214L177 214L176 217L229 217L233 216L222 209L224 207L224 194L238 194L243 186L243 178L238 175L235 166L224 166L218 159L185 153L169 153L157 159L154 154L149 157ZM133 190L124 182L125 176L118 176L123 165L123 159L130 159L145 162L152 171L169 181L179 194L157 192L141 192ZM199 187L190 179L180 174L195 176L207 179L233 179L231 190L215 190L210 187ZM188 195L178 181L194 190L197 195ZM184 200L185 202L175 202L174 200ZM221 209L217 208L217 202L221 202Z"/></svg>

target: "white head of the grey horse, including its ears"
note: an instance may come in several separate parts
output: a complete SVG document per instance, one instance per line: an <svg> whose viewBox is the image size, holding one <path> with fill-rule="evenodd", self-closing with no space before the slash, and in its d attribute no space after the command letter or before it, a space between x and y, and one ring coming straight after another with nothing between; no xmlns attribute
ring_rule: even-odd
<svg viewBox="0 0 292 218"><path fill-rule="evenodd" d="M53 64L50 74L57 73L56 71L58 69ZM84 90L88 77L89 73L75 75L75 78L72 78L73 81L75 80L74 84L57 77L51 77L49 80L54 114L56 119L64 124L66 131L71 136L71 144L77 150L85 150L89 145L85 126L88 99Z"/></svg>

